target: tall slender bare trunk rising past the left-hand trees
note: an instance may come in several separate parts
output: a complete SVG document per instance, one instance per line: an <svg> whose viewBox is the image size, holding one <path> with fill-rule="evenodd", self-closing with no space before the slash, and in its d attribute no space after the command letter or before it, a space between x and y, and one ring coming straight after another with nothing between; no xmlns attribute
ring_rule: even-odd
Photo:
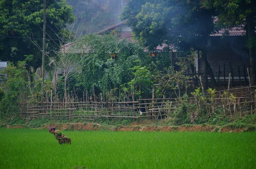
<svg viewBox="0 0 256 169"><path fill-rule="evenodd" d="M43 23L43 56L42 56L42 94L41 100L43 101L44 97L44 57L45 57L45 31L46 31L46 0L44 0L44 23Z"/></svg>

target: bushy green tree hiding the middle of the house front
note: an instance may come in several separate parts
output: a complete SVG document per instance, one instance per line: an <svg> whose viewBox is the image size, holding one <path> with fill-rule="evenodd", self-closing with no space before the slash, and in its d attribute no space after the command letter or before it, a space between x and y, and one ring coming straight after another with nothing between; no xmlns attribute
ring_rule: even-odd
<svg viewBox="0 0 256 169"><path fill-rule="evenodd" d="M136 70L131 68L137 65L146 66L151 61L143 46L127 39L119 42L115 34L89 34L79 39L76 46L84 49L82 70L77 76L79 84L91 94L104 94L107 91L120 93L122 86L133 79L133 72ZM134 62L137 60L138 62Z"/></svg>

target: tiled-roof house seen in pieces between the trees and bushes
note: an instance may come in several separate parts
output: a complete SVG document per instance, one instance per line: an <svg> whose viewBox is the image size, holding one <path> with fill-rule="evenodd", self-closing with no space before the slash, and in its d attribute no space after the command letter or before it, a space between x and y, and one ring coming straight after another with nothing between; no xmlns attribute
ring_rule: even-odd
<svg viewBox="0 0 256 169"><path fill-rule="evenodd" d="M128 38L134 41L132 30L125 24L126 22L127 20L99 31L97 34L108 34L110 31L116 31L119 34L120 40ZM245 34L246 32L242 28L232 28L222 29L209 36L207 41L207 60L212 68L217 84L227 85L229 73L233 74L232 85L247 84L247 68L250 68L250 60L245 46ZM71 45L72 43L62 46L61 51L67 53ZM165 44L157 46L157 51L161 51L165 47L167 47ZM176 58L186 56L182 52L175 51L172 46L168 47L172 49L170 59L173 61ZM76 52L81 52L81 49L76 49ZM203 72L203 59L196 54L195 73L201 74ZM187 73L191 72L188 71ZM208 77L208 79L210 78Z"/></svg>

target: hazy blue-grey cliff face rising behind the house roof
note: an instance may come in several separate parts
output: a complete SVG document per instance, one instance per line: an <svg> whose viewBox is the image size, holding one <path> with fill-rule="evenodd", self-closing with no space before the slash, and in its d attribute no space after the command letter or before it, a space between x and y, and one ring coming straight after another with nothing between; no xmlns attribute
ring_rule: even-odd
<svg viewBox="0 0 256 169"><path fill-rule="evenodd" d="M76 23L70 25L75 37L102 31L120 23L119 14L125 8L126 0L67 0L72 6Z"/></svg>

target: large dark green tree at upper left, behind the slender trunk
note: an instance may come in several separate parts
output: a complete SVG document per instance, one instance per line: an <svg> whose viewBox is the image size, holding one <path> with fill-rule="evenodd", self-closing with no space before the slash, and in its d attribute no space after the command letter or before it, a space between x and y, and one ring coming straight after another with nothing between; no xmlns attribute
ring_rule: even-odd
<svg viewBox="0 0 256 169"><path fill-rule="evenodd" d="M67 23L75 17L65 0L47 0L46 46L47 50L59 48L55 42ZM34 55L31 65L42 64L42 35L44 4L41 0L0 0L0 53L1 61L17 64L25 55ZM60 36L63 37L63 36ZM50 53L49 53L50 54Z"/></svg>

